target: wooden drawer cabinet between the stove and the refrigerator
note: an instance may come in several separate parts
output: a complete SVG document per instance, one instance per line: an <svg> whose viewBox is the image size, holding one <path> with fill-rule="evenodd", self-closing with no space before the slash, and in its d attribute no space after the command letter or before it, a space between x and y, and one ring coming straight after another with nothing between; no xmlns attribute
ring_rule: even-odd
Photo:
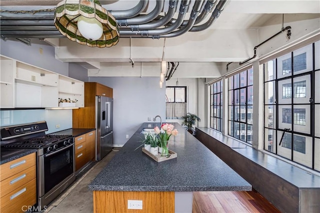
<svg viewBox="0 0 320 213"><path fill-rule="evenodd" d="M95 159L95 130L74 138L75 172Z"/></svg>

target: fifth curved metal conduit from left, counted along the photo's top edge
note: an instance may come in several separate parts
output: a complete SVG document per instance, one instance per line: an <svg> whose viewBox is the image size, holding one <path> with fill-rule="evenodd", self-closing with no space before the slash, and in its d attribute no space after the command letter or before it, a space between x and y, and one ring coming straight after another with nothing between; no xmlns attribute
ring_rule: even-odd
<svg viewBox="0 0 320 213"><path fill-rule="evenodd" d="M186 26L184 26L183 28L178 29L178 30L176 30L174 32L167 33L167 34L164 34L164 35L159 35L159 37L160 38L171 38L171 37L176 37L176 36L182 35L183 33L189 31L189 29L191 29L191 27L193 26L196 17L198 16L198 13L199 13L199 11L201 9L202 2L203 2L203 0L195 1L194 5L192 7L192 11L191 11L191 14L190 14L189 21L186 24Z"/></svg>

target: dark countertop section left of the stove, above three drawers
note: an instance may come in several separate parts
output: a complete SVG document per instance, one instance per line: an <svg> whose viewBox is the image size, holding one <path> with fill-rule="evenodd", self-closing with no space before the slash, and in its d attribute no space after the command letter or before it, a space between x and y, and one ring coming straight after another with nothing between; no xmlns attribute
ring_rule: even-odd
<svg viewBox="0 0 320 213"><path fill-rule="evenodd" d="M1 147L0 165L34 153L36 151L36 149L6 149Z"/></svg>

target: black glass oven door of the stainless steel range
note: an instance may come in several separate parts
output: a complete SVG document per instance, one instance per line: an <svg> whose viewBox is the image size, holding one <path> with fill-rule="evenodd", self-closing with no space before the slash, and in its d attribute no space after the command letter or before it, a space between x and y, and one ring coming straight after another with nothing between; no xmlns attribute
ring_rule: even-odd
<svg viewBox="0 0 320 213"><path fill-rule="evenodd" d="M39 197L74 173L73 144L56 152L39 156Z"/></svg>

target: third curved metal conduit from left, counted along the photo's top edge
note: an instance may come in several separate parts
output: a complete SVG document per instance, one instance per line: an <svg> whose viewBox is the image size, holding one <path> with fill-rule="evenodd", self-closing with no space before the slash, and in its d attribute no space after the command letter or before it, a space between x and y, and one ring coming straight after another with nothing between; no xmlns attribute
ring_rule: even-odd
<svg viewBox="0 0 320 213"><path fill-rule="evenodd" d="M170 0L168 12L164 16L161 16L160 19L157 19L156 21L145 23L145 24L120 26L120 29L126 28L126 29L131 29L131 31L138 31L141 29L154 29L159 26L163 26L173 17L176 5L177 5L177 0Z"/></svg>

